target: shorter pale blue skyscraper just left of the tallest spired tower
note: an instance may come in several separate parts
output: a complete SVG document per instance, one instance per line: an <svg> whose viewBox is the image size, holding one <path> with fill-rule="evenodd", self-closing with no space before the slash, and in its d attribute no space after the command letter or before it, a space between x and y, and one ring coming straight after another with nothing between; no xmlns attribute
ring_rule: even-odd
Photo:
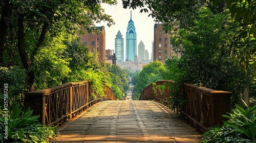
<svg viewBox="0 0 256 143"><path fill-rule="evenodd" d="M121 34L120 30L118 30L115 38L115 53L117 62L123 62L123 35Z"/></svg>

